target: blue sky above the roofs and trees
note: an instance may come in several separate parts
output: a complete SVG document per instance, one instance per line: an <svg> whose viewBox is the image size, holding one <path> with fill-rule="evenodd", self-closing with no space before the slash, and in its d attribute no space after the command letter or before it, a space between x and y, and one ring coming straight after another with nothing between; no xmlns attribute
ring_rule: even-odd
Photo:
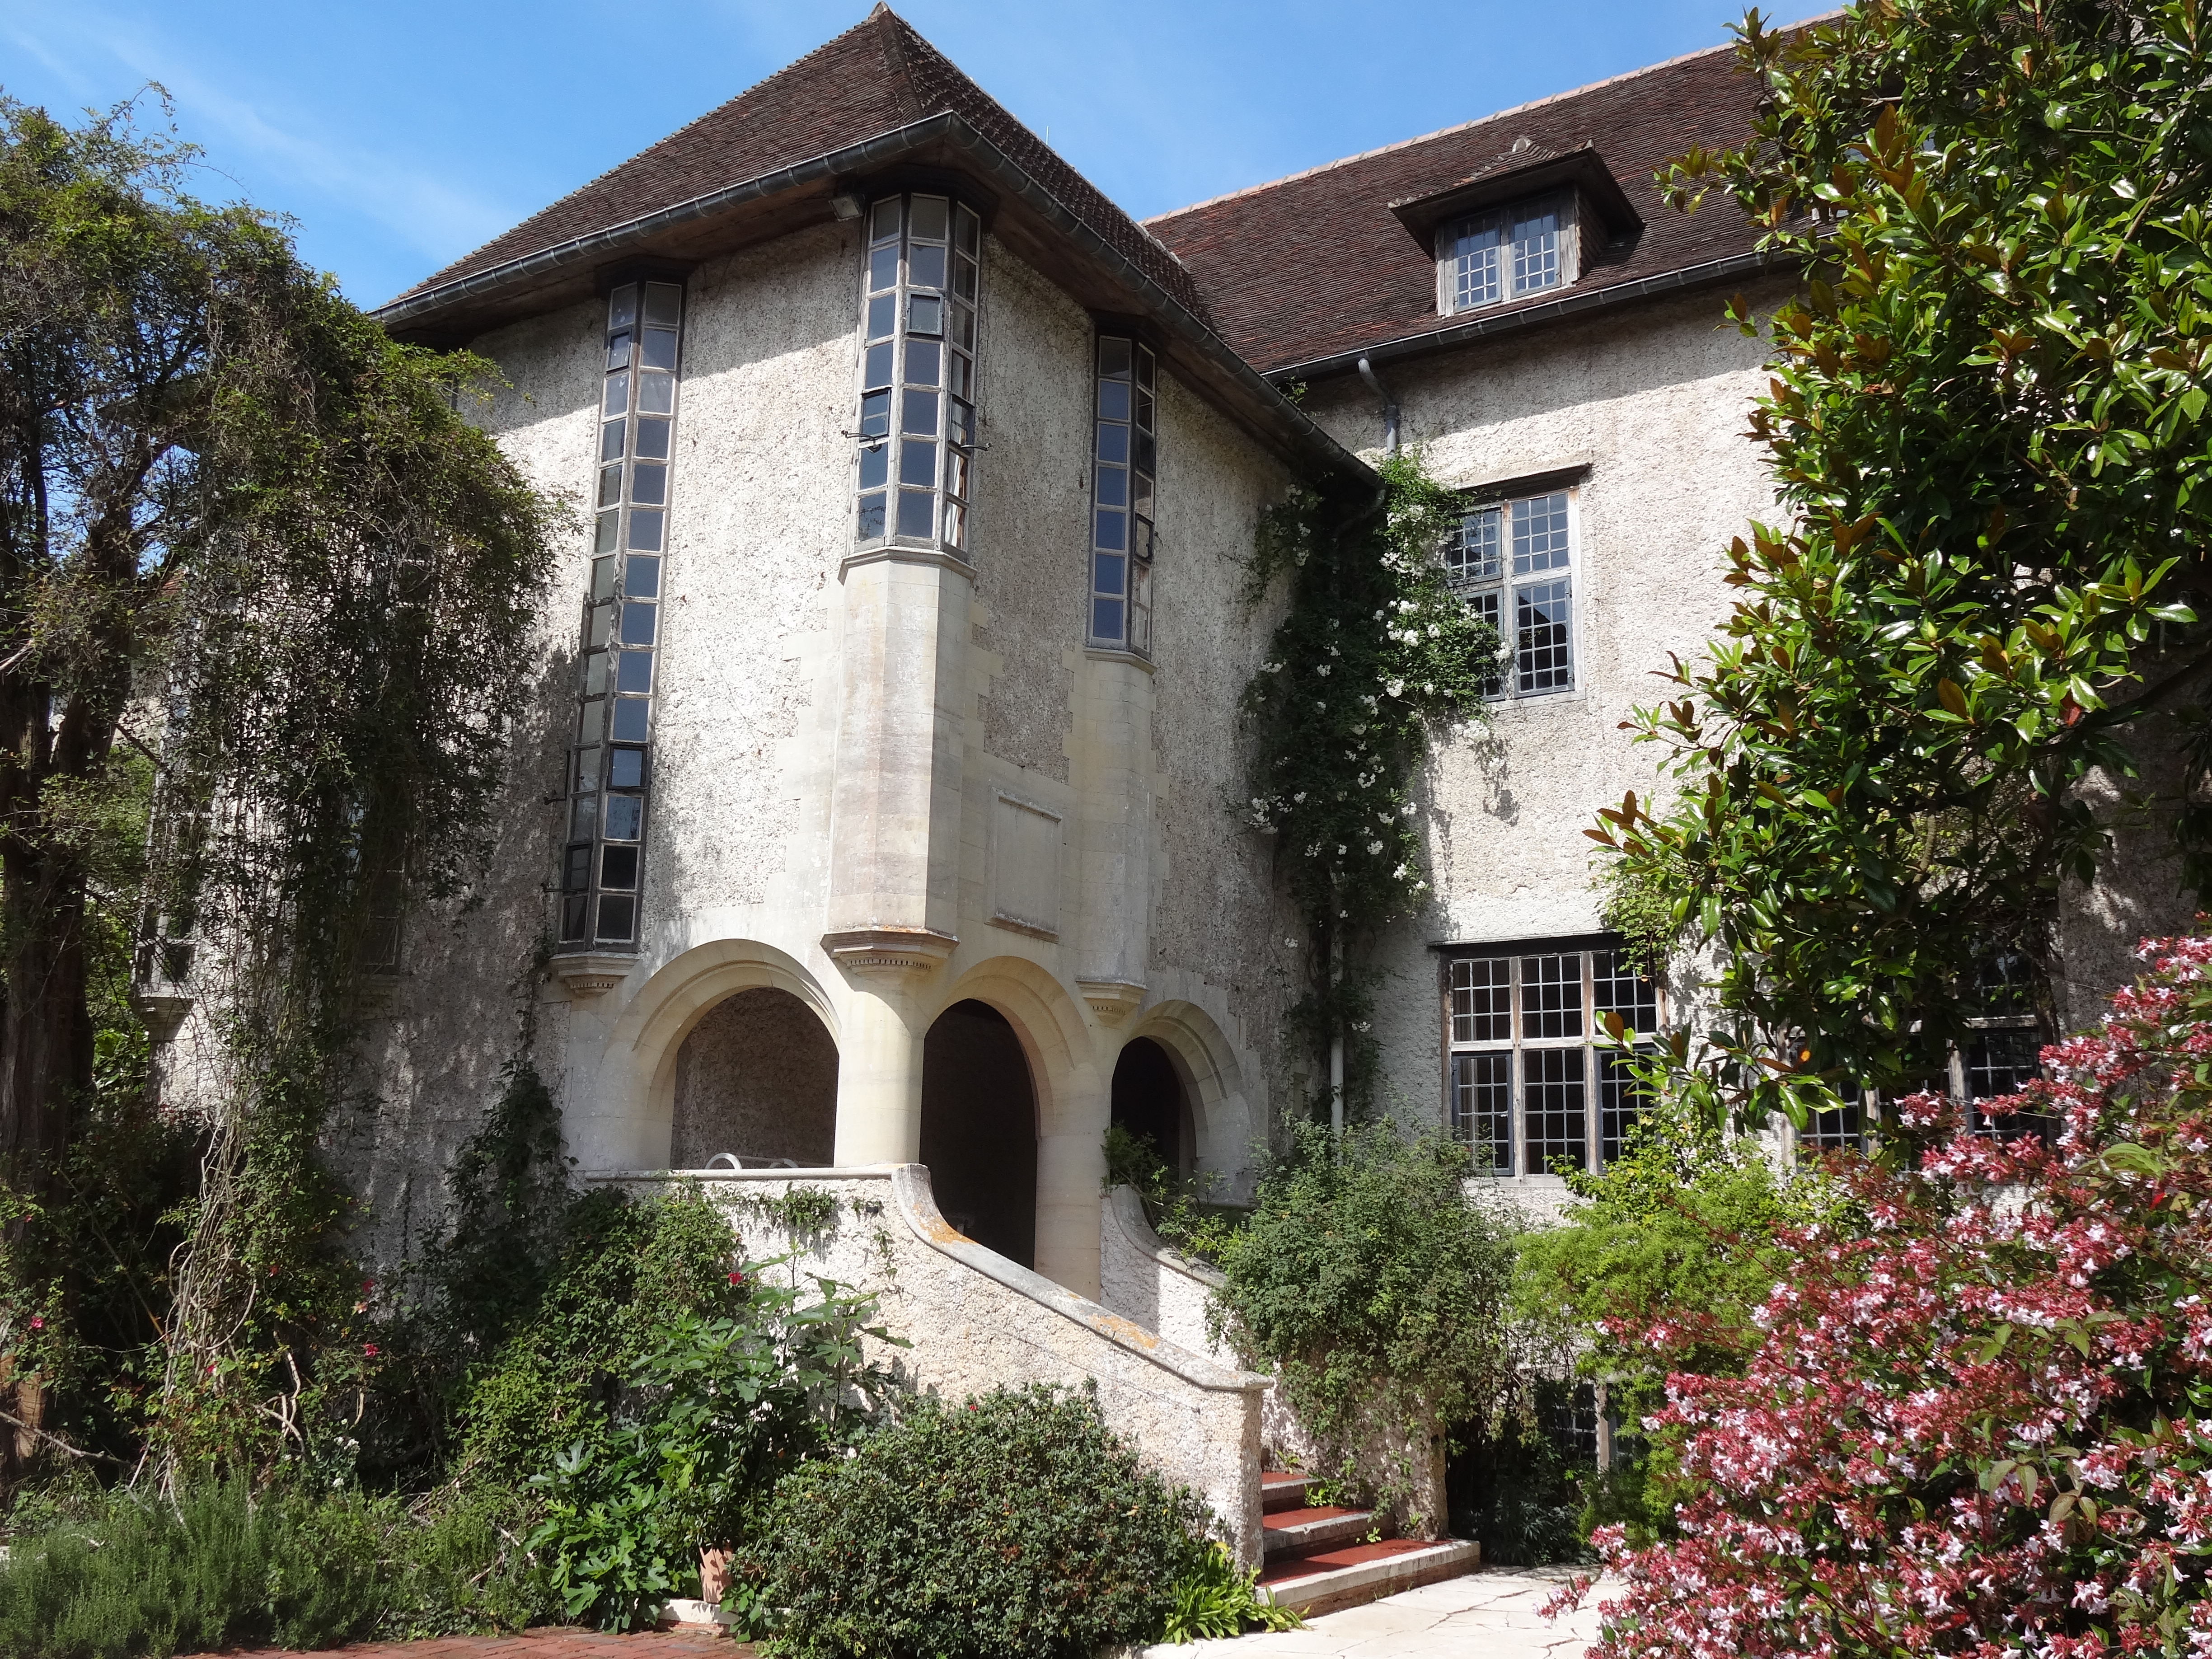
<svg viewBox="0 0 2212 1659"><path fill-rule="evenodd" d="M896 9L1139 217L1717 44L1736 15L1725 0ZM0 86L62 115L161 82L206 150L199 192L292 215L301 252L376 305L865 13L64 0L0 9Z"/></svg>

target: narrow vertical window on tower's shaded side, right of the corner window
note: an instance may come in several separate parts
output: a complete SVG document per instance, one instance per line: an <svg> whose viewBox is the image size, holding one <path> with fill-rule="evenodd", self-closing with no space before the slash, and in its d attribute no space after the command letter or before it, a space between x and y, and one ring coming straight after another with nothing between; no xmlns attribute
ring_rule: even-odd
<svg viewBox="0 0 2212 1659"><path fill-rule="evenodd" d="M1091 644L1152 650L1152 347L1099 336L1091 509Z"/></svg>

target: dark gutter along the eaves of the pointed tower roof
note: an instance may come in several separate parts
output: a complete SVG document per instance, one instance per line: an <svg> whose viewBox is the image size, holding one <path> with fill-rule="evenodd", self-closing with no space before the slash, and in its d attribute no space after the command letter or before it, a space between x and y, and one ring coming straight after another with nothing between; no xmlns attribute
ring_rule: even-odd
<svg viewBox="0 0 2212 1659"><path fill-rule="evenodd" d="M1265 378L1259 369L1245 363L1237 352L1223 341L1212 327L1199 321L1179 299L1168 290L1146 276L1137 265L1133 265L1117 248L1113 248L1097 230L1084 223L1082 217L1071 212L1055 195L1051 195L1042 184L1037 184L1022 166L1018 166L1004 150L1000 150L991 139L969 126L958 113L940 111L920 122L909 122L907 126L894 126L889 133L878 133L872 139L852 144L843 150L830 150L827 155L816 155L807 161L796 161L779 173L765 173L757 179L745 179L743 184L732 184L723 190L710 190L703 197L692 197L690 201L679 201L672 208L659 208L657 212L641 215L619 226L606 230L593 230L584 237L573 237L571 241L557 243L553 248L542 248L535 254L524 254L520 259L509 259L491 270L480 270L471 276L460 276L451 283L440 283L438 288L425 290L420 294L409 294L396 299L389 305L380 305L369 312L378 323L389 327L405 327L434 312L445 310L462 299L476 299L491 294L515 283L524 283L533 276L566 270L571 265L597 265L628 248L630 243L644 241L672 226L688 223L692 219L703 219L708 215L721 212L745 201L763 201L772 195L794 190L803 184L836 181L852 173L863 173L869 166L916 150L931 139L949 139L967 150L984 173L1002 181L1013 195L1018 195L1031 212L1042 217L1064 237L1068 237L1077 248L1082 248L1093 263L1104 265L1121 283L1133 288L1157 316L1168 323L1168 330L1183 338L1188 345L1212 363L1217 369L1225 372L1248 396L1252 396L1263 409L1267 409L1283 434L1290 438L1292 449L1303 449L1312 460L1321 462L1325 469L1349 476L1352 482L1363 487L1376 487L1380 480L1374 469L1367 467L1358 456L1336 442L1327 431L1323 431L1312 416L1298 409L1274 380ZM1150 234L1150 232L1146 232ZM1168 254L1172 259L1172 254Z"/></svg>

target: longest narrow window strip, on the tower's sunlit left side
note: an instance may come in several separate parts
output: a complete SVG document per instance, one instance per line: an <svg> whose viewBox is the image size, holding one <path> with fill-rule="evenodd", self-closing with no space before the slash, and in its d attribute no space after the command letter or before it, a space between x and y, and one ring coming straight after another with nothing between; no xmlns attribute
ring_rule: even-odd
<svg viewBox="0 0 2212 1659"><path fill-rule="evenodd" d="M584 686L562 856L560 938L571 947L637 942L681 334L679 283L624 283L608 294Z"/></svg>

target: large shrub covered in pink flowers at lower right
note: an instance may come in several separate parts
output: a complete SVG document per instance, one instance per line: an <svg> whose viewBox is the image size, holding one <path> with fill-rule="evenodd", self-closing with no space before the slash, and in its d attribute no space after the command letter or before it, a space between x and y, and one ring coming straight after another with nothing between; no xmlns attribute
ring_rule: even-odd
<svg viewBox="0 0 2212 1659"><path fill-rule="evenodd" d="M2212 1659L2212 938L2141 953L2000 1106L2048 1146L1907 1099L1918 1159L1836 1172L1867 1232L1783 1234L1741 1376L1674 1360L1679 1535L1595 1535L1626 1579L1595 1659Z"/></svg>

